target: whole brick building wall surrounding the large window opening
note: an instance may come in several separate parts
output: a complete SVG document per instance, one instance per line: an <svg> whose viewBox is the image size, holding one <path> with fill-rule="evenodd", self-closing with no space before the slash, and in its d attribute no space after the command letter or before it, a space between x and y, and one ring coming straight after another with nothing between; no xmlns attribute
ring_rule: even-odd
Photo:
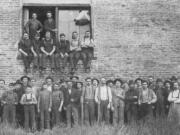
<svg viewBox="0 0 180 135"><path fill-rule="evenodd" d="M179 0L1 0L0 78L12 81L23 74L17 43L39 7L53 11L59 32L62 10L90 11L97 58L91 76L179 76Z"/></svg>

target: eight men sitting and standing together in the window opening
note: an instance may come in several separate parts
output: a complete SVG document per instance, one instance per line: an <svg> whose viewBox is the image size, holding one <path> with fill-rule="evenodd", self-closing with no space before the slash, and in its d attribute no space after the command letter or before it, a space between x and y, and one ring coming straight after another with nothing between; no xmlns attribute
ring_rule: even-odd
<svg viewBox="0 0 180 135"><path fill-rule="evenodd" d="M40 32L43 30L45 36L41 38ZM71 41L66 39L64 33L61 33L60 38L58 37L58 40L55 40L56 32L55 21L51 12L47 12L47 20L45 20L44 26L37 20L37 14L32 14L32 19L25 25L23 37L18 44L25 72L29 72L31 63L33 63L35 71L45 71L47 60L49 60L52 73L55 71L64 72L68 62L71 72L74 73L80 59L83 61L85 72L90 72L95 46L90 31L85 32L82 40L79 38L78 32L72 32Z"/></svg>

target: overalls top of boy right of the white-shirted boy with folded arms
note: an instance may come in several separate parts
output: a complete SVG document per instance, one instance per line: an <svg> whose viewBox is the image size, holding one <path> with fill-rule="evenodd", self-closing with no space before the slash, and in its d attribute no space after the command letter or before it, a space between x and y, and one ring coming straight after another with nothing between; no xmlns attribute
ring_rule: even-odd
<svg viewBox="0 0 180 135"><path fill-rule="evenodd" d="M39 93L39 109L48 110L52 107L52 93L47 90L42 90Z"/></svg>

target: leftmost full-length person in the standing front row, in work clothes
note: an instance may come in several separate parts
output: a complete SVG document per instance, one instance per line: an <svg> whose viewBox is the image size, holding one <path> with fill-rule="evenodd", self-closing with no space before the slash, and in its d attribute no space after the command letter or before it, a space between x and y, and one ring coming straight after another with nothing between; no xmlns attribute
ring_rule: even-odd
<svg viewBox="0 0 180 135"><path fill-rule="evenodd" d="M3 104L3 122L16 126L16 105L18 103L17 94L13 91L14 84L10 83L7 91L2 95L1 103Z"/></svg>

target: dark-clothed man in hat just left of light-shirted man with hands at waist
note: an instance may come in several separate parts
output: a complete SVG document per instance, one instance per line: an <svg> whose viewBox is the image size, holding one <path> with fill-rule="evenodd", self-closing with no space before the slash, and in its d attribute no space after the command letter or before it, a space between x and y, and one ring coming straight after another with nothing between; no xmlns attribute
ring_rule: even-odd
<svg viewBox="0 0 180 135"><path fill-rule="evenodd" d="M127 114L127 122L137 121L139 92L135 89L134 81L129 81L129 90L125 93L125 112Z"/></svg>

